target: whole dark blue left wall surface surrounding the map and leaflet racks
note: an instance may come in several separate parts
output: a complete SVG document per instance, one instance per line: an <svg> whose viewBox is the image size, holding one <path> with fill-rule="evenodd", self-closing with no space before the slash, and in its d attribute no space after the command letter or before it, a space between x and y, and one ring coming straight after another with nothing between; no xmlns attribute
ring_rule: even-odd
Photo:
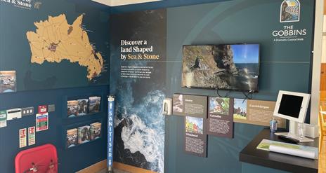
<svg viewBox="0 0 326 173"><path fill-rule="evenodd" d="M86 83L86 87L83 88L68 88L81 86L79 85L80 81L87 81L85 76L86 68L68 61L61 62L60 64L44 63L42 66L31 64L31 53L26 39L26 32L35 31L34 22L45 20L48 18L48 15L56 16L64 13L67 17L67 22L71 24L81 13L86 13L83 25L85 25L86 29L93 31L88 32L89 40L96 43L98 51L106 54L104 58L108 61L110 57L110 48L108 47L110 39L108 22L110 7L86 0L41 2L39 9L32 8L31 10L16 8L11 4L0 2L0 71L15 68L17 71L23 68L40 71L39 73L34 71L34 85L42 84L42 80L48 74L50 76L60 74L61 76L56 76L58 81L53 88L59 87L63 89L31 90L33 88L24 88L24 80L22 77L19 77L17 81L18 89L30 91L0 94L0 110L34 106L34 111L37 112L37 106L39 105L56 105L56 111L49 113L49 129L43 132L36 132L36 144L33 146L19 148L18 130L34 126L35 115L18 120L10 120L7 127L0 128L1 173L15 172L14 160L18 152L42 144L53 144L58 149L60 172L76 172L106 158L106 95L109 90L109 85L107 85L109 76L103 76L106 85L87 86L88 83ZM102 25L98 25L99 23ZM43 69L45 71L42 71ZM22 76L21 74L18 76ZM77 78L76 76L73 78L67 77L73 74ZM78 78L79 76L80 78ZM70 85L67 85L65 82L70 83ZM81 99L89 96L102 97L100 113L77 118L66 118L67 99ZM65 130L95 122L103 123L101 139L65 149Z"/></svg>

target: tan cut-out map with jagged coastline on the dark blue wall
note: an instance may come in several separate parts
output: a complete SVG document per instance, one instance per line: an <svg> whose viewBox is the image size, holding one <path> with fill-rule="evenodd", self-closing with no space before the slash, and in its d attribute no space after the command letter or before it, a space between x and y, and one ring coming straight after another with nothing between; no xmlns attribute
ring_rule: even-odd
<svg viewBox="0 0 326 173"><path fill-rule="evenodd" d="M87 78L91 81L103 69L103 57L96 53L89 42L89 36L81 27L83 15L69 25L65 15L48 16L48 20L34 22L36 32L27 32L32 51L31 62L43 64L44 61L59 63L62 60L77 62L87 67Z"/></svg>

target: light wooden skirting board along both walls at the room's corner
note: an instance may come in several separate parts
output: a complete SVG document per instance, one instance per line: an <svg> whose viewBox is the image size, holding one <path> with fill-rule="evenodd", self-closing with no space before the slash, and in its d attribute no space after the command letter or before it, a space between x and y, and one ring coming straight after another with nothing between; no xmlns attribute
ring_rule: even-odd
<svg viewBox="0 0 326 173"><path fill-rule="evenodd" d="M147 169L141 169L139 167L133 167L131 165L126 165L126 164L123 164L123 163L120 163L120 162L113 162L113 168L120 169L120 170L123 170L123 171L126 171L126 172L131 172L131 173L156 173L156 172L152 172L152 171L147 170ZM102 160L100 162L97 162L94 165L86 167L85 169L81 169L77 173L96 173L96 172L100 172L103 169L107 169L106 160Z"/></svg>

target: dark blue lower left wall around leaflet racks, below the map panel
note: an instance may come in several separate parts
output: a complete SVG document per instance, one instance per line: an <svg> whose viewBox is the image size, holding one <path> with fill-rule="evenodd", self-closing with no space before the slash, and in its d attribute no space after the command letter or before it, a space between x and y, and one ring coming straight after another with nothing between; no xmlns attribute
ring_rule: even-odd
<svg viewBox="0 0 326 173"><path fill-rule="evenodd" d="M0 110L22 108L55 104L56 111L49 113L49 129L36 133L36 145L53 144L58 149L59 171L76 172L84 167L93 165L106 158L106 110L108 85L87 87L87 88L70 88L58 90L38 90L27 92L4 93L0 95ZM67 99L83 98L92 95L101 96L100 113L90 116L66 118L67 117ZM102 139L91 141L88 144L82 144L74 148L65 149L65 130L89 125L94 122L102 122L103 136ZM35 125L35 116L27 116L18 120L10 120L8 126L0 129L0 164L1 172L11 173L14 171L15 155L22 150L34 146L19 148L18 130Z"/></svg>

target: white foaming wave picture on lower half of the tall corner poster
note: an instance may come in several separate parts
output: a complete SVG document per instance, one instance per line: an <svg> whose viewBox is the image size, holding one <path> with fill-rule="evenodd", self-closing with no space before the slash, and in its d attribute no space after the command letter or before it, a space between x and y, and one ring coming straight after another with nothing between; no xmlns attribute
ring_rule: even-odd
<svg viewBox="0 0 326 173"><path fill-rule="evenodd" d="M115 117L115 157L136 167L164 172L164 92L148 92L134 103L131 81L119 92ZM123 103L123 104L119 104Z"/></svg>

